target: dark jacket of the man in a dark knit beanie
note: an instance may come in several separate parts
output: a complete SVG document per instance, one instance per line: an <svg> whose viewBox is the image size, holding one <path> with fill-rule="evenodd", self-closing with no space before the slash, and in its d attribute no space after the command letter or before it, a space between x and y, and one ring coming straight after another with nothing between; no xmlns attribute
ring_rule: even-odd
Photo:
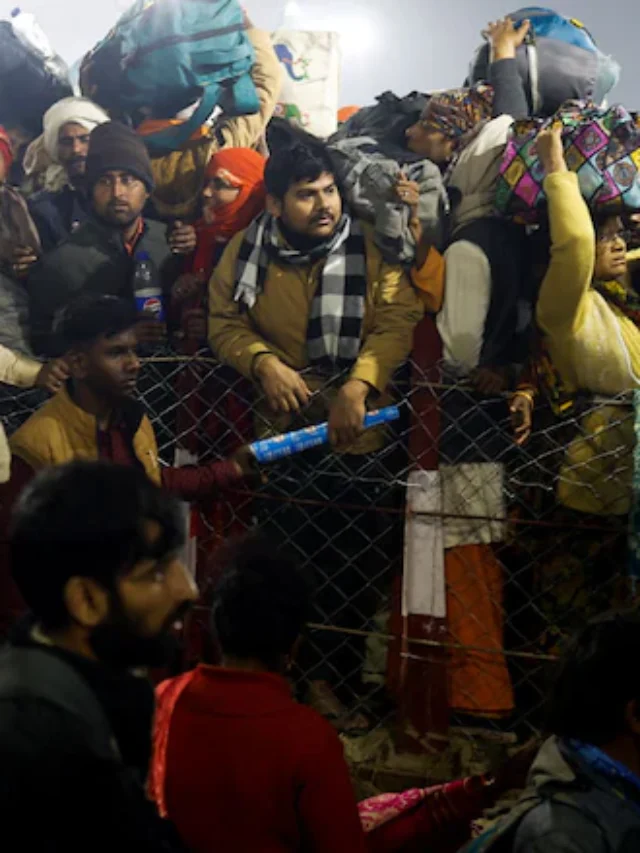
<svg viewBox="0 0 640 853"><path fill-rule="evenodd" d="M166 226L145 220L137 252L147 252L160 283L168 292L180 272L181 260L172 255ZM55 319L82 293L133 298L135 259L127 252L119 231L94 219L81 225L68 240L46 255L27 282L31 342L39 355L62 354L53 332Z"/></svg>

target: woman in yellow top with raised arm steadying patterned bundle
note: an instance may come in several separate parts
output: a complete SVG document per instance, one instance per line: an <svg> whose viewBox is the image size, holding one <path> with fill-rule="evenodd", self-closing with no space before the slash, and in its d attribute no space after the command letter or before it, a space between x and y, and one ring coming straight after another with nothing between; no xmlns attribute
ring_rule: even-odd
<svg viewBox="0 0 640 853"><path fill-rule="evenodd" d="M640 297L627 280L622 221L603 215L594 224L578 177L567 168L561 128L543 131L536 146L551 228L536 314L561 383L555 396L570 401L585 391L606 398L581 418L558 500L583 513L623 515L630 508L633 425L624 400L611 398L640 386ZM531 429L534 393L522 388L511 403L519 443Z"/></svg>

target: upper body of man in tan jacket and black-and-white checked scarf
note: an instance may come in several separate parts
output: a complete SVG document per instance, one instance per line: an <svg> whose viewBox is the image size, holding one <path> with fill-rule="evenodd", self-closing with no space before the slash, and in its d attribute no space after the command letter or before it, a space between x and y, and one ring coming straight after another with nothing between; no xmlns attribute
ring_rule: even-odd
<svg viewBox="0 0 640 853"><path fill-rule="evenodd" d="M330 384L332 443L353 451L366 402L385 394L424 309L343 210L323 149L274 154L265 181L269 213L231 241L211 279L211 346L258 382L283 428Z"/></svg>

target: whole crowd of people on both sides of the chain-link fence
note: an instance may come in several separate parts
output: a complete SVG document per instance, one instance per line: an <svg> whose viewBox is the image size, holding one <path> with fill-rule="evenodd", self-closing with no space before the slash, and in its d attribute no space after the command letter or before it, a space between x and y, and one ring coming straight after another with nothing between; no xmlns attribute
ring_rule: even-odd
<svg viewBox="0 0 640 853"><path fill-rule="evenodd" d="M150 152L153 118L134 129L89 97L53 104L38 138L9 119L0 128L0 300L21 306L0 330L0 379L50 395L8 440L0 432L8 837L52 851L456 853L472 821L516 788L525 792L515 808L470 851L630 851L640 841L640 695L620 661L640 645L633 614L590 622L570 646L528 782L530 750L495 775L358 805L338 732L370 727L341 688L361 676L360 634L402 550L393 522L365 514L356 534L340 507L376 502L371 477L382 460L393 468L397 451L384 430L365 430L365 415L397 401L393 377L412 352L420 360L427 337L438 356L420 369L437 363L445 379L498 398L512 447L531 437L538 401L560 418L581 396L600 400L568 450L578 474L558 496L585 517L628 512L625 482L607 483L600 503L593 485L617 424L612 400L640 384L634 212L623 221L620 210L590 209L560 118L535 138L544 222L496 215L514 122L532 111L517 60L529 21L488 26L486 81L425 98L390 172L376 161L376 175L392 178L380 178L375 192L388 192L368 221L346 188L345 158L361 156L348 140L269 135L279 66L266 34L246 24L260 109L203 128L203 162L198 140L197 155ZM205 431L235 407L246 428L228 458L161 459L137 386L141 355L169 344L186 356L208 348L247 389L244 402L223 398L210 379L185 404L200 407ZM192 381L180 376L174 392L189 397ZM163 681L154 698L147 670L175 663L199 595L181 558L177 500L259 483L253 439L323 421L330 446L282 460L262 484L261 536L216 554L218 664ZM615 440L630 456L633 439ZM197 459L199 448L184 449ZM486 457L454 468L442 476L458 505L461 472L501 483ZM300 505L283 500L291 482ZM305 501L322 506L313 519ZM493 611L499 649L495 530L449 531L441 556L450 587L456 565L477 569L468 615ZM323 621L346 639L306 636L308 622ZM467 698L452 707L509 714L507 665L494 656L491 666L485 684L461 670ZM293 671L306 704L292 696Z"/></svg>

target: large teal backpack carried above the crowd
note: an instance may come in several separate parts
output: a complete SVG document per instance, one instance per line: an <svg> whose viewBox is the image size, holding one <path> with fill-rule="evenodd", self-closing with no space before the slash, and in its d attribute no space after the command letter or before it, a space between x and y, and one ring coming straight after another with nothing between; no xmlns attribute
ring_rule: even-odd
<svg viewBox="0 0 640 853"><path fill-rule="evenodd" d="M83 60L83 92L134 125L174 118L200 99L181 125L145 136L151 149L176 150L216 107L259 111L245 29L238 0L136 0Z"/></svg>

